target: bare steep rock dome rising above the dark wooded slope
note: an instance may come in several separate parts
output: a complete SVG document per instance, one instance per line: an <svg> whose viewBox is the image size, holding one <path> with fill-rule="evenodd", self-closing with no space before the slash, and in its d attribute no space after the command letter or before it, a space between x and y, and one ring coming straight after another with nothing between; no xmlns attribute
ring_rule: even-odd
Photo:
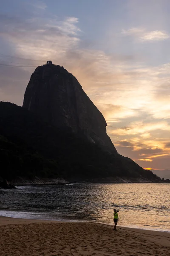
<svg viewBox="0 0 170 256"><path fill-rule="evenodd" d="M26 88L23 107L58 128L82 134L110 153L117 153L107 123L77 79L59 65L37 67Z"/></svg>

